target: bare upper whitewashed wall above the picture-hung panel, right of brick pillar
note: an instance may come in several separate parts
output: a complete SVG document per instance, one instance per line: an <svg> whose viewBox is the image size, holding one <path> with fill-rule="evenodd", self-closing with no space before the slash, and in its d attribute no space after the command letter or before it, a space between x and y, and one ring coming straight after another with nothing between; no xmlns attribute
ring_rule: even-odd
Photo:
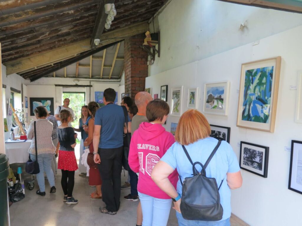
<svg viewBox="0 0 302 226"><path fill-rule="evenodd" d="M239 30L245 21L246 28ZM156 55L149 75L297 27L302 25L302 14L216 0L172 0L155 19L156 31L157 22L160 58Z"/></svg>

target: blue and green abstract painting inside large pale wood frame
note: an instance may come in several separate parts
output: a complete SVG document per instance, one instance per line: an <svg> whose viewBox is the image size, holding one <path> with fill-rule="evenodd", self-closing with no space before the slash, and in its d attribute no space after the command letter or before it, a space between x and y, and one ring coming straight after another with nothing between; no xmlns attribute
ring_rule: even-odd
<svg viewBox="0 0 302 226"><path fill-rule="evenodd" d="M242 120L269 123L274 67L246 70Z"/></svg>

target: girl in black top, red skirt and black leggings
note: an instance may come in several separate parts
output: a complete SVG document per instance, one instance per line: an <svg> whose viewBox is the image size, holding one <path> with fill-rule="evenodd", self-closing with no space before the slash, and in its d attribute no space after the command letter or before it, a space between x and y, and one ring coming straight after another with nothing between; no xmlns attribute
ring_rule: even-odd
<svg viewBox="0 0 302 226"><path fill-rule="evenodd" d="M78 169L74 149L77 133L72 127L68 127L68 123L71 121L71 114L68 110L60 111L60 119L62 124L57 128L60 143L58 169L62 170L63 201L66 204L76 204L78 200L72 196L72 190L75 184L75 171Z"/></svg>

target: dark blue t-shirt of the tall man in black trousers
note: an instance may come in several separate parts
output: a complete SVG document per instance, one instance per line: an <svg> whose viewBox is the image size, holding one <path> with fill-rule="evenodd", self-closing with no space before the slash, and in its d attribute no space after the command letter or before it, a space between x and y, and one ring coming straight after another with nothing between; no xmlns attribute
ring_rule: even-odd
<svg viewBox="0 0 302 226"><path fill-rule="evenodd" d="M124 111L115 104L107 104L95 113L95 125L101 126L99 148L119 148L123 146Z"/></svg>

